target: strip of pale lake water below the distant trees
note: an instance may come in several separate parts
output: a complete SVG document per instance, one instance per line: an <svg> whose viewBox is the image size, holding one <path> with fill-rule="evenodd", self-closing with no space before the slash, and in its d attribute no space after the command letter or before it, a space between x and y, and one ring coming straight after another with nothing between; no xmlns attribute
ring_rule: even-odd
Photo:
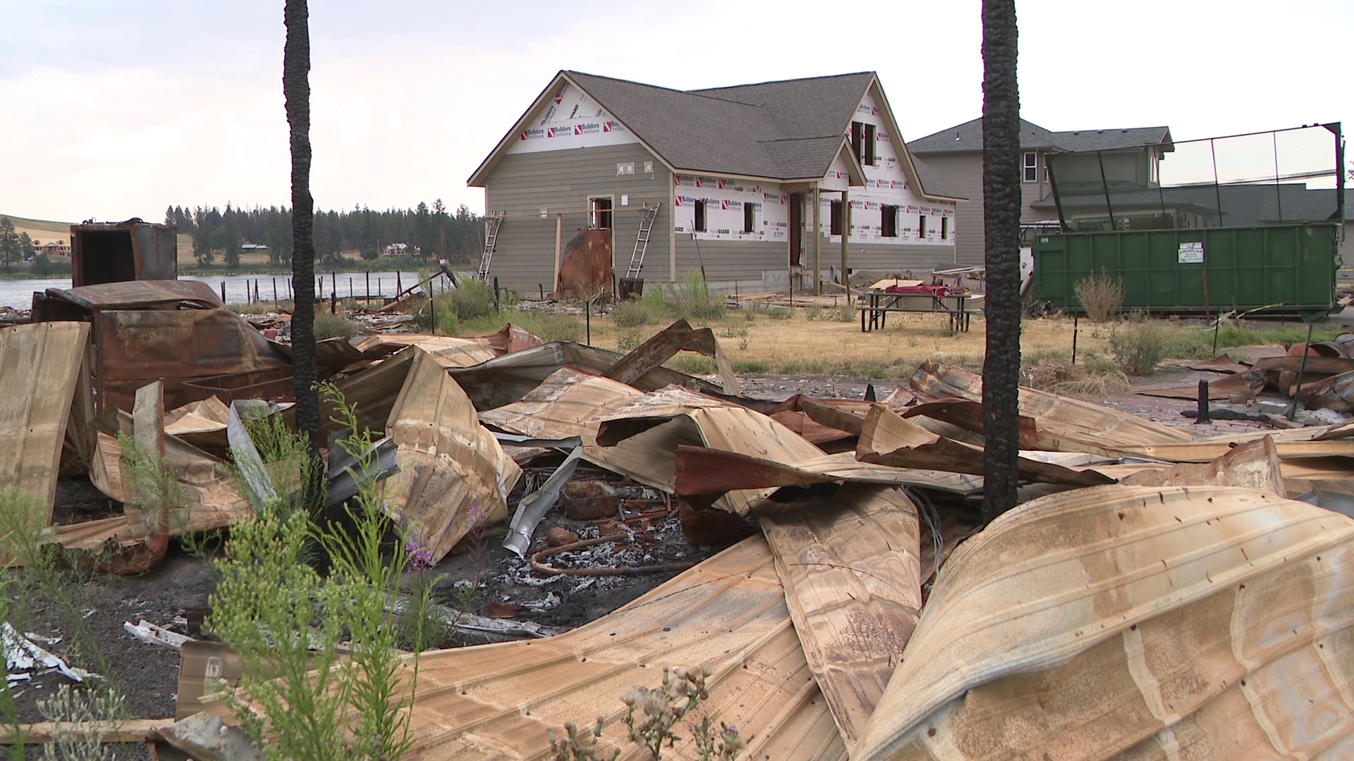
<svg viewBox="0 0 1354 761"><path fill-rule="evenodd" d="M286 275L180 275L180 280L198 280L211 286L217 295L221 295L222 283L226 288L226 303L246 303L253 301L255 284L257 283L259 301L271 302L276 284L278 298L287 299L291 292L291 278ZM317 294L329 298L330 291L338 298L367 295L368 276L366 272L338 272L337 275L317 276L315 282L324 280ZM408 288L418 282L417 272L372 272L370 276L371 295L393 297L399 287ZM15 309L32 307L32 292L47 288L69 288L70 278L46 278L41 280L0 280L0 306Z"/></svg>

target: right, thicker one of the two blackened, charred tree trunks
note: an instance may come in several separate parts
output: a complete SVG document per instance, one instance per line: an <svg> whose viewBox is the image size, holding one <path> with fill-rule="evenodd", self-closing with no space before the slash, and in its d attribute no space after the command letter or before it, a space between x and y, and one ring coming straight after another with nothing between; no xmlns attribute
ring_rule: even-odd
<svg viewBox="0 0 1354 761"><path fill-rule="evenodd" d="M1020 89L1016 1L983 0L983 517L1016 505L1020 447Z"/></svg>

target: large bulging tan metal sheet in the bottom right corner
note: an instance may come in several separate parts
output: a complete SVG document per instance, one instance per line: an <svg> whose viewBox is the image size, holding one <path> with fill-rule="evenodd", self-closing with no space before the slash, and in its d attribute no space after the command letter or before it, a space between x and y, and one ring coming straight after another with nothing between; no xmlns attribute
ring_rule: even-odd
<svg viewBox="0 0 1354 761"><path fill-rule="evenodd" d="M1231 487L1020 505L941 570L858 761L1342 758L1354 521Z"/></svg>

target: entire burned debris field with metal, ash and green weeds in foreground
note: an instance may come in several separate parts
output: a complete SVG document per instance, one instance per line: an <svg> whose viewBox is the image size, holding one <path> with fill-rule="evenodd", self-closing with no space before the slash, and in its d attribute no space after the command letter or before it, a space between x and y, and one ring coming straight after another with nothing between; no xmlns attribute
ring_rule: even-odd
<svg viewBox="0 0 1354 761"><path fill-rule="evenodd" d="M685 320L613 352L372 310L317 344L311 473L255 326L286 314L199 286L53 290L0 328L30 757L310 757L386 716L380 753L429 760L1223 758L1313 711L1286 747L1338 754L1354 722L1345 337L1022 387L1020 504L984 525L972 370L741 376ZM1289 421L1298 371L1327 409Z"/></svg>

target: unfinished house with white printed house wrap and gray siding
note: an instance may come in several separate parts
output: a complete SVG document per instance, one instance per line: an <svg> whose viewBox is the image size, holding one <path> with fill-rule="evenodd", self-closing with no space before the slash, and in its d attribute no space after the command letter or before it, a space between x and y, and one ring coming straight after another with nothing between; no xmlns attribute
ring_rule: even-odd
<svg viewBox="0 0 1354 761"><path fill-rule="evenodd" d="M468 184L502 215L490 276L529 291L552 288L561 238L585 226L612 230L626 276L655 207L649 280L807 287L815 249L839 272L844 225L848 268L929 271L955 261L963 200L909 156L872 72L691 92L559 72Z"/></svg>

